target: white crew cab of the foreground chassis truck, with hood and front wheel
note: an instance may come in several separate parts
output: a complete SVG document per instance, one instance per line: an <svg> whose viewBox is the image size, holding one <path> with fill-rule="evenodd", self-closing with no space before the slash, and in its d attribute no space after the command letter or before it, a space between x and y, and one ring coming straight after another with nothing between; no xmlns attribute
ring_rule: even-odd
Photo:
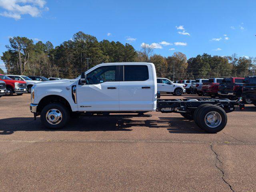
<svg viewBox="0 0 256 192"><path fill-rule="evenodd" d="M156 93L154 64L99 64L75 80L35 84L30 110L36 116L41 115L45 126L58 128L74 112L154 111Z"/></svg>

